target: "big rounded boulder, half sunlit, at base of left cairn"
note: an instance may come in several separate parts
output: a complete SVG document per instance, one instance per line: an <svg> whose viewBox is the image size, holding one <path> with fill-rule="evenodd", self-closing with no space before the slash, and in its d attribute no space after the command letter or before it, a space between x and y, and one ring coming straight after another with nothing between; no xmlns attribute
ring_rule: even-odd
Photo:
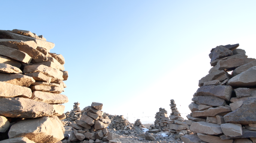
<svg viewBox="0 0 256 143"><path fill-rule="evenodd" d="M58 117L41 117L18 121L10 128L8 136L27 137L36 143L55 143L64 138L63 130Z"/></svg>

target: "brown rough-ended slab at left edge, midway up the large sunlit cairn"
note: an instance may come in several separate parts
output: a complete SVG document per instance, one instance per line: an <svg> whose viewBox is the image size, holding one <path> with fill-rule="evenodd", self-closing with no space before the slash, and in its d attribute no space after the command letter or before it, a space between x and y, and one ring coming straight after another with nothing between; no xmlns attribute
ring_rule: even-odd
<svg viewBox="0 0 256 143"><path fill-rule="evenodd" d="M13 85L28 87L36 82L32 77L23 74L4 74L0 73L0 81Z"/></svg>

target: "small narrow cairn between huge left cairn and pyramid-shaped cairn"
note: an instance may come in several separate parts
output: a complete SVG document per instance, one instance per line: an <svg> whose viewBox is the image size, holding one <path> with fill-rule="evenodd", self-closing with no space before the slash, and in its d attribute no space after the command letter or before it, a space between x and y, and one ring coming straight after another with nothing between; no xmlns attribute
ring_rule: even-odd
<svg viewBox="0 0 256 143"><path fill-rule="evenodd" d="M75 120L82 117L81 109L79 107L80 103L74 102L73 110L66 112L66 118L63 120L64 126L75 123Z"/></svg>

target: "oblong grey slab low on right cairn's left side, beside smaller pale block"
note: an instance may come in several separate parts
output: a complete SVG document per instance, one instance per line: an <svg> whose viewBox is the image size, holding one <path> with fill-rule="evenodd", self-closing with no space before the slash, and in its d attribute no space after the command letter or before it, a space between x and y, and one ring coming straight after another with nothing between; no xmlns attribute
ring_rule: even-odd
<svg viewBox="0 0 256 143"><path fill-rule="evenodd" d="M193 122L190 126L190 130L195 133L204 133L217 135L222 134L222 130L219 124L206 123L206 122Z"/></svg>

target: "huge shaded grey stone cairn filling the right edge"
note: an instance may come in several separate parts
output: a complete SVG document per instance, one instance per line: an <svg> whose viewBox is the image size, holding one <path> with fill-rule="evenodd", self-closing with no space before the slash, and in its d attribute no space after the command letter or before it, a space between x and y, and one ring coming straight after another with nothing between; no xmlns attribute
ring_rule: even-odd
<svg viewBox="0 0 256 143"><path fill-rule="evenodd" d="M189 105L186 123L194 134L182 136L183 142L256 142L256 59L238 46L211 50L213 67L199 80Z"/></svg>

